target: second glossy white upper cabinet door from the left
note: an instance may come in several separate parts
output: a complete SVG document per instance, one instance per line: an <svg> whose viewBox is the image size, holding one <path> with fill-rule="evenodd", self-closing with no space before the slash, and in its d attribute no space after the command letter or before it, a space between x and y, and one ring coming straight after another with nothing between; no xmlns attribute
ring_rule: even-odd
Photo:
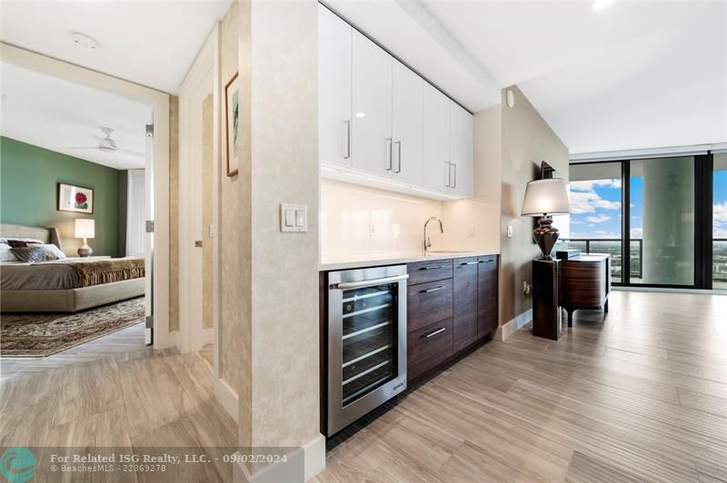
<svg viewBox="0 0 727 483"><path fill-rule="evenodd" d="M392 172L392 56L354 31L354 168Z"/></svg>

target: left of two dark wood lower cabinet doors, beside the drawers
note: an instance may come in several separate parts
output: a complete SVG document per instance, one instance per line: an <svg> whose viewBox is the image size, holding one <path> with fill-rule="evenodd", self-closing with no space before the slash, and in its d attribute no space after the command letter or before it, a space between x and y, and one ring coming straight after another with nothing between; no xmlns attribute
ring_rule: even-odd
<svg viewBox="0 0 727 483"><path fill-rule="evenodd" d="M454 351L477 340L477 258L454 259Z"/></svg>

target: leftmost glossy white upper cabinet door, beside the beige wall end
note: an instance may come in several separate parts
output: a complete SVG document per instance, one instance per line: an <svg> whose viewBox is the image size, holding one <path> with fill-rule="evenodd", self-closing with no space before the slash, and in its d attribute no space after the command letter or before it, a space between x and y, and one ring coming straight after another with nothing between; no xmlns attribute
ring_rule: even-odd
<svg viewBox="0 0 727 483"><path fill-rule="evenodd" d="M351 25L318 5L318 153L351 166Z"/></svg>

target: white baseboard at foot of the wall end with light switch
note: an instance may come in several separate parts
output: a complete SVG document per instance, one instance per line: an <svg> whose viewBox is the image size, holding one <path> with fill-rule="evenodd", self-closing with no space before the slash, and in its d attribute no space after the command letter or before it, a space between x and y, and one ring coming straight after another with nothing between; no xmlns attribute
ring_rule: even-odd
<svg viewBox="0 0 727 483"><path fill-rule="evenodd" d="M240 460L240 458L235 459ZM302 447L286 452L284 460L266 465L256 471L254 475L250 474L247 465L238 462L234 465L233 480L240 483L308 481L324 469L325 438L324 435L319 434Z"/></svg>

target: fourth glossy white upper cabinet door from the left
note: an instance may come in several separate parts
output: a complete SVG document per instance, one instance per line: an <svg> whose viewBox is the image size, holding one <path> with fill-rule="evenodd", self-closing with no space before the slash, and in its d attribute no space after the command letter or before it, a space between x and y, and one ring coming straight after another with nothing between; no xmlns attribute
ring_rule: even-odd
<svg viewBox="0 0 727 483"><path fill-rule="evenodd" d="M444 94L424 84L423 186L441 192L450 191L449 103Z"/></svg>

